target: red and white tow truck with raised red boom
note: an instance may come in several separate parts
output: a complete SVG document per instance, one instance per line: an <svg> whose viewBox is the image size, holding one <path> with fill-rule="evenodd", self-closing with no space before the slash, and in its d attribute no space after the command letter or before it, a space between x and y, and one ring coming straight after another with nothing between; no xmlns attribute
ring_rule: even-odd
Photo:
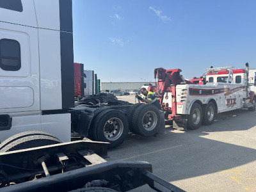
<svg viewBox="0 0 256 192"><path fill-rule="evenodd" d="M217 113L248 108L255 111L256 95L250 91L249 65L246 68L207 68L201 77L184 79L181 69L156 68L155 92L166 120L177 129L211 125Z"/></svg>

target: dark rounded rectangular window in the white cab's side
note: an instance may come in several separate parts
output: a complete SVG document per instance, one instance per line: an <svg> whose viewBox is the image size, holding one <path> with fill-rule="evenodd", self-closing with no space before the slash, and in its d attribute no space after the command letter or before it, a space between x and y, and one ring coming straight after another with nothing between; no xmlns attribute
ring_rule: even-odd
<svg viewBox="0 0 256 192"><path fill-rule="evenodd" d="M0 0L1 1L1 0ZM0 40L0 68L3 70L19 70L20 44L17 40L3 38Z"/></svg>

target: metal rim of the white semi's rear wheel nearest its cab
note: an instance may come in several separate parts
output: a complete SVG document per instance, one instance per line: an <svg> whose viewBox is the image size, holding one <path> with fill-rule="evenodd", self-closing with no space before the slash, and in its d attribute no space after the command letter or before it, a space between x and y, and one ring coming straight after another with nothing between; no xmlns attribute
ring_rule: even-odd
<svg viewBox="0 0 256 192"><path fill-rule="evenodd" d="M104 125L104 136L110 141L120 138L123 131L124 124L119 118L110 118Z"/></svg>

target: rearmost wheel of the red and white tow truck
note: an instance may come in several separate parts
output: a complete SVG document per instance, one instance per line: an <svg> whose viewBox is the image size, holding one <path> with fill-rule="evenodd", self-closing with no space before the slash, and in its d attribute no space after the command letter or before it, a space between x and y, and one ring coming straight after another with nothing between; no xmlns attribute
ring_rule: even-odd
<svg viewBox="0 0 256 192"><path fill-rule="evenodd" d="M202 108L200 104L194 103L188 116L188 129L198 129L202 124Z"/></svg>

